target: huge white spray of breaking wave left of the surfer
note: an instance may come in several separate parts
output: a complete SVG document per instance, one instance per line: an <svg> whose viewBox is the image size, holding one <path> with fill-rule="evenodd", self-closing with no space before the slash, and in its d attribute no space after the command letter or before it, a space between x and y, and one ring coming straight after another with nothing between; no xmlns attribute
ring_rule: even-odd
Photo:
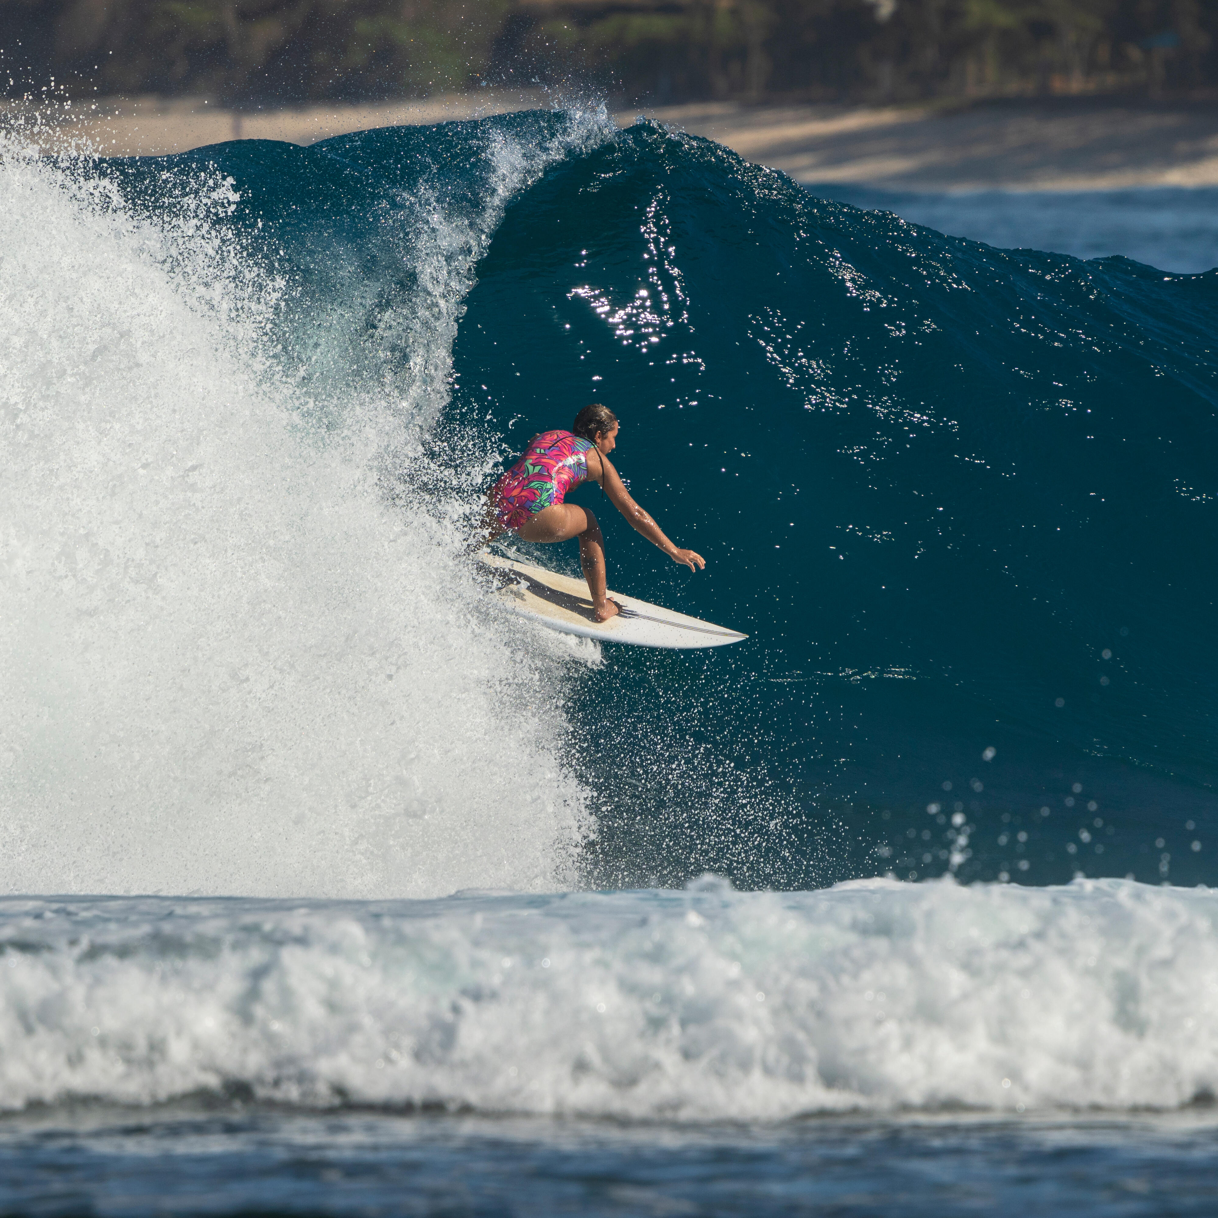
<svg viewBox="0 0 1218 1218"><path fill-rule="evenodd" d="M418 375L350 386L324 443L276 363L283 285L209 224L230 181L153 222L0 149L0 890L570 882L561 667L454 557L468 486L390 505L381 475L443 403L505 201L593 128L490 140L473 212L430 206Z"/></svg>

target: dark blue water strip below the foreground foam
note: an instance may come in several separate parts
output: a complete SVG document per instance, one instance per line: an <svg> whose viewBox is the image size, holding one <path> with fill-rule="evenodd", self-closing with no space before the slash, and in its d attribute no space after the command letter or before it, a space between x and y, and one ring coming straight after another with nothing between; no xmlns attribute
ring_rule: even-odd
<svg viewBox="0 0 1218 1218"><path fill-rule="evenodd" d="M0 1124L9 1214L1209 1214L1214 1128L810 1121L777 1129L375 1113L80 1112Z"/></svg>

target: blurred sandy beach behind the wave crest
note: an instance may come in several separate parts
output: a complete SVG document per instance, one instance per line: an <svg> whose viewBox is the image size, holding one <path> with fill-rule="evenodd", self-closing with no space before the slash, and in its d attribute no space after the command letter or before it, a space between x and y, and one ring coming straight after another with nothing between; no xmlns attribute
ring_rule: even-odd
<svg viewBox="0 0 1218 1218"><path fill-rule="evenodd" d="M66 106L39 135L107 156L156 156L231 139L312 144L346 132L440 123L547 106L541 94L451 94L426 101L233 111L205 99L107 99ZM10 114L12 112L10 111ZM1057 97L972 105L747 105L622 110L725 144L805 184L935 194L1218 185L1218 104Z"/></svg>

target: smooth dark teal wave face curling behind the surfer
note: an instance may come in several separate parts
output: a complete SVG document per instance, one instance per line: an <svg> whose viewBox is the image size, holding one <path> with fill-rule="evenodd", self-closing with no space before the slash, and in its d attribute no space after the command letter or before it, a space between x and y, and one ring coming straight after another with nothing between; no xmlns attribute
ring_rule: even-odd
<svg viewBox="0 0 1218 1218"><path fill-rule="evenodd" d="M619 414L633 493L708 568L586 487L610 586L752 637L576 678L588 878L1212 881L1218 273L945 238L644 122L504 185L488 146L570 122L112 173L153 208L167 171L235 180L227 223L287 285L284 358L323 415L447 378L412 357L426 325L454 334L435 436L519 452ZM428 200L495 212L446 229L476 276L415 256Z"/></svg>

